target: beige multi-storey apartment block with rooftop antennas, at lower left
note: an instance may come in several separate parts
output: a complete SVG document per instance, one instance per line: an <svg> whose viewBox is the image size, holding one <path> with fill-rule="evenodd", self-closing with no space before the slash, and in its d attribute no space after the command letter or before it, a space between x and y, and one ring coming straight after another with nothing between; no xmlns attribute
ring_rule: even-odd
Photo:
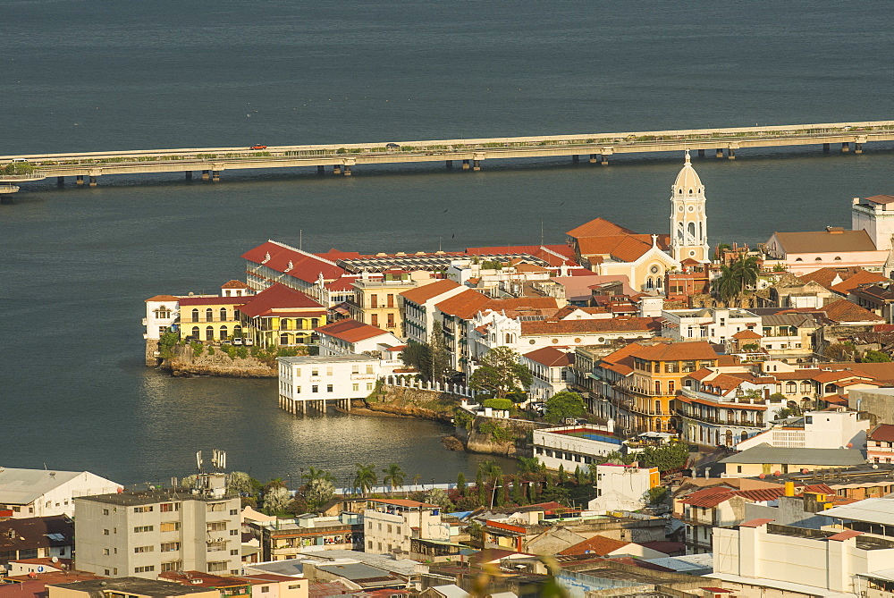
<svg viewBox="0 0 894 598"><path fill-rule="evenodd" d="M239 514L240 499L224 496L223 487L80 497L75 568L149 579L183 570L238 575Z"/></svg>

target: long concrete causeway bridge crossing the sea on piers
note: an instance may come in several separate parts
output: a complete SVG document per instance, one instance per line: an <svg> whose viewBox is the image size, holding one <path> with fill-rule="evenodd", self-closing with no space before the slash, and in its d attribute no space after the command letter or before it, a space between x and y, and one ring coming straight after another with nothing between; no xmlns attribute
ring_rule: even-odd
<svg viewBox="0 0 894 598"><path fill-rule="evenodd" d="M413 162L454 163L464 170L480 170L487 160L581 156L592 164L608 164L610 156L654 152L697 150L699 156L711 152L716 157L736 158L739 149L748 147L834 145L841 152L853 147L857 154L871 141L894 140L894 121L831 122L793 124L772 127L727 129L687 129L680 131L633 131L541 137L505 137L486 139L435 139L427 141L378 141L332 145L276 146L261 149L246 147L198 147L188 149L146 149L133 151L89 152L72 154L23 154L0 156L0 164L24 163L29 171L18 176L0 176L0 193L14 192L13 183L57 177L75 177L79 185L97 185L100 176L109 174L193 173L205 180L219 181L230 170L316 167L325 173L350 176L358 164L401 164ZM840 144L840 145L839 145Z"/></svg>

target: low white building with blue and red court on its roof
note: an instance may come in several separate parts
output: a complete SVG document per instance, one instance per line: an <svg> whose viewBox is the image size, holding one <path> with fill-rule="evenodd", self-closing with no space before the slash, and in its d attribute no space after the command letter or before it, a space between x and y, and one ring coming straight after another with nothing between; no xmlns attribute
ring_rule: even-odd
<svg viewBox="0 0 894 598"><path fill-rule="evenodd" d="M621 442L612 435L613 422L595 425L562 425L534 431L534 456L548 469L589 471L596 459L620 451Z"/></svg>

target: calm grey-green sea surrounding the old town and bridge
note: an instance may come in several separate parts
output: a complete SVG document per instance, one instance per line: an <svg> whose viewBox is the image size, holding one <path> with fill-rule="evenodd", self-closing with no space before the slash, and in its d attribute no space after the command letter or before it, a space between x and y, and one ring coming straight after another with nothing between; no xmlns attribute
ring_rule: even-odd
<svg viewBox="0 0 894 598"><path fill-rule="evenodd" d="M894 17L840 2L339 4L5 0L0 155L887 120ZM849 226L894 147L704 158L709 237ZM143 299L214 291L267 240L363 252L546 242L596 216L668 225L682 156L39 183L0 205L0 465L133 484L221 448L269 478L358 461L455 479L439 425L296 418L274 381L142 366ZM445 210L447 210L445 212ZM505 463L508 465L508 462Z"/></svg>

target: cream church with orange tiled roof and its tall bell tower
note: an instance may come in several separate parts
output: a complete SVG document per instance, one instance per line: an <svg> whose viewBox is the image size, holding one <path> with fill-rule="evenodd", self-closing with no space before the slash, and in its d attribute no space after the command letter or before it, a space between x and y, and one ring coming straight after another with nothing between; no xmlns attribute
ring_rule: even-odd
<svg viewBox="0 0 894 598"><path fill-rule="evenodd" d="M689 153L671 187L670 234L637 234L603 218L567 232L578 263L596 274L627 276L641 292L664 293L664 275L709 260L704 185Z"/></svg>

